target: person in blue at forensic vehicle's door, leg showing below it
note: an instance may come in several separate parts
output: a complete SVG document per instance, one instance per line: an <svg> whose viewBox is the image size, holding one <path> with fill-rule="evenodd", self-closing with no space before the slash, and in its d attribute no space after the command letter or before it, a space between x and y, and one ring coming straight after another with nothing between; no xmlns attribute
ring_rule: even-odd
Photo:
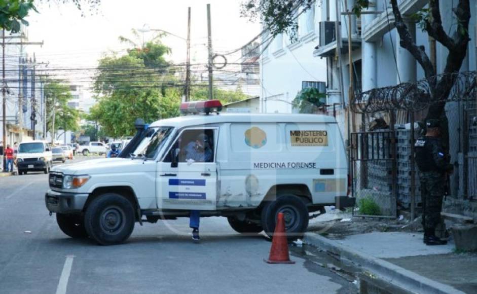
<svg viewBox="0 0 477 294"><path fill-rule="evenodd" d="M189 164L212 161L212 150L210 149L209 138L206 134L199 134L195 141L187 144L185 151L186 161ZM192 239L194 241L200 240L199 223L200 210L191 210L189 227L192 229Z"/></svg>

